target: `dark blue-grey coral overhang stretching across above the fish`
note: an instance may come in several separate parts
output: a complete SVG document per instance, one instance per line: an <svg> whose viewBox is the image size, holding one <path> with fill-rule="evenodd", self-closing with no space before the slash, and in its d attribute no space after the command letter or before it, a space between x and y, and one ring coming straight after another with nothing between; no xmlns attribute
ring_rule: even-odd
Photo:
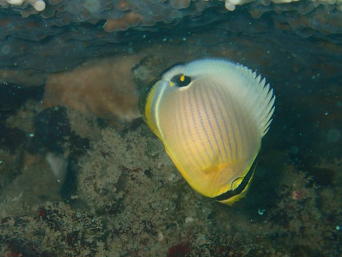
<svg viewBox="0 0 342 257"><path fill-rule="evenodd" d="M177 45L181 40L185 40L189 51L205 47L198 50L197 56L174 51L174 58L218 56L215 47L226 44L227 51L231 51L230 42L239 33L244 34L240 41L249 40L250 45L263 42L271 53L291 50L290 56L304 59L308 58L307 51L314 49L310 58L326 57L326 62L306 60L305 65L338 73L341 64L336 65L336 58L332 58L341 54L342 12L338 6L330 1L252 1L224 13L228 11L222 1L191 1L187 8L176 9L171 1L59 0L47 2L47 8L36 15L23 13L37 12L34 8L0 8L0 83L43 85L50 73L70 71L93 58L121 56L137 48L143 52L154 48L153 55L157 56L163 54L163 47ZM17 13L23 19L18 19ZM283 33L288 40L283 40ZM306 45L304 53L293 43L296 35L319 42L302 40L300 45ZM237 53L245 51L244 47L237 49ZM272 58L276 60L277 55ZM330 58L332 63L328 62ZM173 61L163 66L169 64Z"/></svg>

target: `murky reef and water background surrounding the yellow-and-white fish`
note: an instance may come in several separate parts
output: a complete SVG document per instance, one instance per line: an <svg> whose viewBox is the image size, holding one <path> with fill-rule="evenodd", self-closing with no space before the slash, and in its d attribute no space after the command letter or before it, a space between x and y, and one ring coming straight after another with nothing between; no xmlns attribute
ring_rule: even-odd
<svg viewBox="0 0 342 257"><path fill-rule="evenodd" d="M233 206L137 109L205 57L276 95ZM0 0L0 83L0 256L342 256L341 0Z"/></svg>

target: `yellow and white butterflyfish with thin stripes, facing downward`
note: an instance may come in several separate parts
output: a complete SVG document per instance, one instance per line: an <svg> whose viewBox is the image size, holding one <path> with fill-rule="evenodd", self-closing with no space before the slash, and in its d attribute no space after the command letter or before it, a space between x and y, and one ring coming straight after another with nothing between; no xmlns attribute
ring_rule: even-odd
<svg viewBox="0 0 342 257"><path fill-rule="evenodd" d="M162 73L144 88L139 109L189 185L229 205L250 186L275 99L246 66L206 58Z"/></svg>

